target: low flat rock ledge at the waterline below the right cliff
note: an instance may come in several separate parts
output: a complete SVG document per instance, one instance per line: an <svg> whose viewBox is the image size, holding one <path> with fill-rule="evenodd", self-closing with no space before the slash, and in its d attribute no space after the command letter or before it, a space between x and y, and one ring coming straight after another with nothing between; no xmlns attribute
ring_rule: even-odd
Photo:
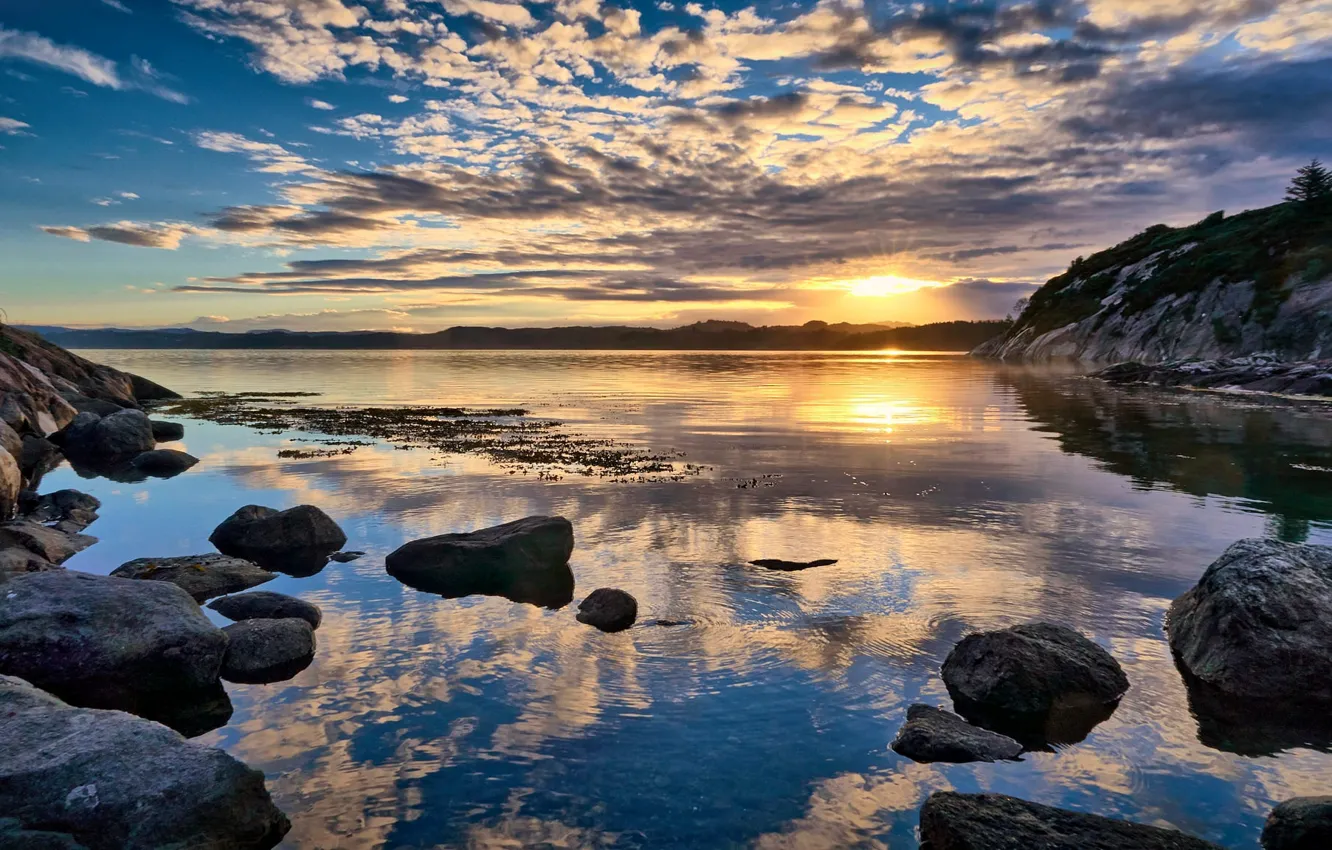
<svg viewBox="0 0 1332 850"><path fill-rule="evenodd" d="M1332 397L1332 360L1292 362L1267 354L1251 354L1227 360L1122 362L1102 369L1092 377L1108 384Z"/></svg>

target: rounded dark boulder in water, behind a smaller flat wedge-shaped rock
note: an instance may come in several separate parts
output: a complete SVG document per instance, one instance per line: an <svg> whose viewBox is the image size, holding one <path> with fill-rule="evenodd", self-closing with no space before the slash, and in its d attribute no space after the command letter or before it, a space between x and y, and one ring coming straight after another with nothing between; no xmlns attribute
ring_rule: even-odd
<svg viewBox="0 0 1332 850"><path fill-rule="evenodd" d="M959 714L1028 749L1082 741L1128 690L1110 653L1046 622L970 634L942 673Z"/></svg>

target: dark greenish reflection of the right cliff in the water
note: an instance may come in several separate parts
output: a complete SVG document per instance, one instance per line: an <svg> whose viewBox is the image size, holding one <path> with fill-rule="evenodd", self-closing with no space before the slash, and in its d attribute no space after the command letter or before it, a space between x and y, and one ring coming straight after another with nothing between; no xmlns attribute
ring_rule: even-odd
<svg viewBox="0 0 1332 850"><path fill-rule="evenodd" d="M1023 370L996 380L1064 452L1138 485L1247 500L1291 542L1332 520L1332 410Z"/></svg>

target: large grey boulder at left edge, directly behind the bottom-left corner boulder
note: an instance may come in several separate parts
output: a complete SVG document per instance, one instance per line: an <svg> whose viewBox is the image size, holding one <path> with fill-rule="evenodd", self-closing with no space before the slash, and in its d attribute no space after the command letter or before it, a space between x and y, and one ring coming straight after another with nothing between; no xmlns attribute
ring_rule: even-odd
<svg viewBox="0 0 1332 850"><path fill-rule="evenodd" d="M0 674L72 705L169 723L216 699L225 650L221 629L168 582L56 570L0 593Z"/></svg>

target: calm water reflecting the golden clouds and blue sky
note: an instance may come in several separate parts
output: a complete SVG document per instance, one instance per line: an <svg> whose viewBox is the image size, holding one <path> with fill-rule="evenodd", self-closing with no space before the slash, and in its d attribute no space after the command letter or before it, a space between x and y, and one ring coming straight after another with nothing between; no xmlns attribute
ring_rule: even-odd
<svg viewBox="0 0 1332 850"><path fill-rule="evenodd" d="M1275 802L1329 791L1325 753L1201 743L1162 633L1235 540L1332 544L1325 414L938 356L84 353L182 392L521 405L707 466L611 484L389 445L277 460L308 444L190 422L202 462L178 478L51 476L104 501L73 569L208 552L245 504L320 505L368 552L265 585L322 606L318 655L229 686L234 717L201 738L268 774L284 847L896 850L943 789L1256 847ZM574 524L575 598L625 588L641 618L694 625L606 636L384 573L405 541L535 513ZM840 562L743 565L759 557ZM888 749L910 703L950 706L938 669L964 633L1034 618L1114 651L1132 682L1114 717L1020 763Z"/></svg>

